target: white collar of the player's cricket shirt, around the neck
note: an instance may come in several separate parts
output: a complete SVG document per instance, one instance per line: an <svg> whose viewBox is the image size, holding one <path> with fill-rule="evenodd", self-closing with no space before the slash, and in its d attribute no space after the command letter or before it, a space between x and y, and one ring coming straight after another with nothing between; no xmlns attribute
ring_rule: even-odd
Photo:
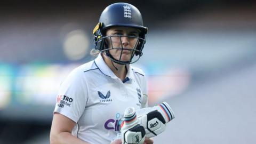
<svg viewBox="0 0 256 144"><path fill-rule="evenodd" d="M118 78L113 71L108 67L106 62L103 60L102 55L99 54L98 57L94 60L95 65L99 68L102 74L109 76L111 78ZM132 78L132 68L130 65L126 65L127 68L127 74L126 77L129 77L129 79Z"/></svg>

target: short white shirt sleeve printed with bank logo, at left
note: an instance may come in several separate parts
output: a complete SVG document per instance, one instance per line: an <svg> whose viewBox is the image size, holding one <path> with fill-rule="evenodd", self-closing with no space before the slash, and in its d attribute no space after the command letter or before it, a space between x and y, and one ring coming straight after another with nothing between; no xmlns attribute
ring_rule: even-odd
<svg viewBox="0 0 256 144"><path fill-rule="evenodd" d="M54 113L60 113L77 123L88 99L86 81L80 71L73 70L60 85Z"/></svg>

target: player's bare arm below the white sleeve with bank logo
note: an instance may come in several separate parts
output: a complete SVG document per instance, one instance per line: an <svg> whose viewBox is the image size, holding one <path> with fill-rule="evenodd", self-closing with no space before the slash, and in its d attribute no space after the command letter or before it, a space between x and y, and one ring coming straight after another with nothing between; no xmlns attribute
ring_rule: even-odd
<svg viewBox="0 0 256 144"><path fill-rule="evenodd" d="M75 122L68 117L55 113L52 119L50 133L51 144L89 144L71 134Z"/></svg>

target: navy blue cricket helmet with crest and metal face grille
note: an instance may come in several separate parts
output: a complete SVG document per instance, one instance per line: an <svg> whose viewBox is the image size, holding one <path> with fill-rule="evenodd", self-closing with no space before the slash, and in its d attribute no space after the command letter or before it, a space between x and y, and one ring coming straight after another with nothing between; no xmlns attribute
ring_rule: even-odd
<svg viewBox="0 0 256 144"><path fill-rule="evenodd" d="M110 27L132 27L139 29L140 33L138 37L135 36L124 36L114 35L106 36L106 30ZM134 63L141 57L144 44L146 43L147 28L143 26L143 20L139 10L128 3L114 3L106 7L101 13L100 20L97 26L93 29L94 35L94 49L105 54L115 63L126 65ZM133 47L123 47L122 37L133 38L137 41ZM113 46L113 39L119 39L121 47ZM110 54L110 51L121 51L119 59L114 58ZM128 61L122 61L123 51L130 51L131 57Z"/></svg>

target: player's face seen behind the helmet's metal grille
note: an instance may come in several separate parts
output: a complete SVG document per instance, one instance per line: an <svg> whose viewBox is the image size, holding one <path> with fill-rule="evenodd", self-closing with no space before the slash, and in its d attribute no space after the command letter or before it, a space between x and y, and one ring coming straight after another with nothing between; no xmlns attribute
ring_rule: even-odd
<svg viewBox="0 0 256 144"><path fill-rule="evenodd" d="M109 53L121 61L129 61L135 53L135 47L139 43L139 30L131 27L111 27L106 31ZM131 36L131 37L129 37ZM122 57L120 58L120 55Z"/></svg>

